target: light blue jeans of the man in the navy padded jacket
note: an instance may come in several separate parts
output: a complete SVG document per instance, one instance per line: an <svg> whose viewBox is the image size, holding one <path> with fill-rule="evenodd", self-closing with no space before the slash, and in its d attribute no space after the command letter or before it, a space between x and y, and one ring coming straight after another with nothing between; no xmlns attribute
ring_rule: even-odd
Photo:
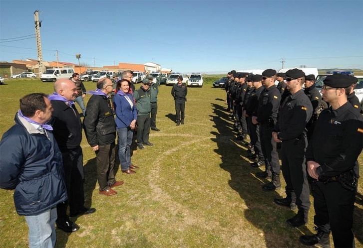
<svg viewBox="0 0 363 248"><path fill-rule="evenodd" d="M55 246L55 220L57 209L54 207L38 215L25 216L29 228L30 248L53 248Z"/></svg>

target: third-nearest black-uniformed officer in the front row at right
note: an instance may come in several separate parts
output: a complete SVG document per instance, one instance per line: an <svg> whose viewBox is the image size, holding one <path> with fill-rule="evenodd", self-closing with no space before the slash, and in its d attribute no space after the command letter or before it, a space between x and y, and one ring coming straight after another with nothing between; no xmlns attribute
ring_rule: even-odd
<svg viewBox="0 0 363 248"><path fill-rule="evenodd" d="M263 186L264 190L273 191L281 187L280 162L276 149L276 141L272 139L272 131L277 122L281 94L275 86L276 71L267 69L262 73L265 90L259 98L257 115L252 117L253 124L260 124L262 152L265 158L266 171L256 173L260 178L272 177L272 181Z"/></svg>

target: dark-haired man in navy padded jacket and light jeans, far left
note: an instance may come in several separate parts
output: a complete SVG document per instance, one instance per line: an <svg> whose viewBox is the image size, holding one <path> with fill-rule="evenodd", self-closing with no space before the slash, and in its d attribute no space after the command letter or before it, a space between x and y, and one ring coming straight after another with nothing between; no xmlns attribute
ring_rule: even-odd
<svg viewBox="0 0 363 248"><path fill-rule="evenodd" d="M62 154L46 124L52 111L46 95L24 96L15 125L0 141L0 187L15 189L16 212L25 216L30 247L55 246L56 206L67 200Z"/></svg>

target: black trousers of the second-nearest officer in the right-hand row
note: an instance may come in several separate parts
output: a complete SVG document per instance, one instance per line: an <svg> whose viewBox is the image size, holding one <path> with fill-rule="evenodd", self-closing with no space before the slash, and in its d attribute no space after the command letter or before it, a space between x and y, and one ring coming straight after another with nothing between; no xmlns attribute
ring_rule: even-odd
<svg viewBox="0 0 363 248"><path fill-rule="evenodd" d="M310 208L310 190L305 163L305 150L307 138L286 140L281 145L282 174L286 187L285 192L289 199L296 202L299 211L303 211L305 221L308 221Z"/></svg>

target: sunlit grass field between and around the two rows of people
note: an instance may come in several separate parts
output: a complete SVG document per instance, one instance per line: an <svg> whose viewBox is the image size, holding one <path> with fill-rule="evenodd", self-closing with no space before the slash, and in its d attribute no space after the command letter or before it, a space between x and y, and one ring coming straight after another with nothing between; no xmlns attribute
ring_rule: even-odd
<svg viewBox="0 0 363 248"><path fill-rule="evenodd" d="M313 230L313 207L306 226L287 226L296 212L273 203L274 197L285 197L285 185L262 191L266 181L254 176L259 169L249 165L246 147L234 139L225 92L211 86L217 78L206 76L203 88L188 89L180 126L174 123L171 87L160 87L161 131L150 135L155 146L133 151L132 161L140 168L135 175L118 170L117 180L125 183L115 188L115 196L98 194L95 156L83 135L86 206L97 211L71 218L80 230L57 231L56 247L304 247L299 236ZM91 82L85 86L95 89ZM0 85L1 135L13 124L18 99L31 92L50 94L52 83L7 80ZM359 160L362 165L362 154ZM361 183L354 213L357 247L363 247L362 194ZM27 246L27 226L15 212L12 195L0 190L1 248Z"/></svg>

